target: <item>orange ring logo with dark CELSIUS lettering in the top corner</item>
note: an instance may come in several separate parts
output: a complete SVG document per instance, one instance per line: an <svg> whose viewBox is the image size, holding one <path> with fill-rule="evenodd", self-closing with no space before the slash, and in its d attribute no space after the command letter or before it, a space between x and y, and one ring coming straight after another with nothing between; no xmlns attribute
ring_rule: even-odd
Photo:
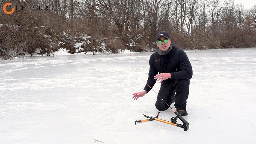
<svg viewBox="0 0 256 144"><path fill-rule="evenodd" d="M12 10L11 11L7 11L6 10L7 6L10 6L12 8ZM3 7L4 12L6 14L9 14L9 15L12 14L15 11L15 9L17 11L19 11L19 10L34 10L34 11L35 10L53 10L53 6L50 6L50 5L47 5L47 6L41 6L41 5L34 5L34 6L17 5L17 6L15 6L15 4L13 4L13 3L6 3L6 4L4 4L4 7Z"/></svg>

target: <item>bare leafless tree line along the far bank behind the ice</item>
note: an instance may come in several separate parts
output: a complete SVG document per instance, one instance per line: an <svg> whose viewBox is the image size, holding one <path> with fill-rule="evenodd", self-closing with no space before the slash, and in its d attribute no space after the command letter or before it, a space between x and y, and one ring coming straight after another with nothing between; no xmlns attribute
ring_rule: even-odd
<svg viewBox="0 0 256 144"><path fill-rule="evenodd" d="M38 43L29 38L34 35L31 32L37 32L31 30L35 26L52 29L56 43L60 40L57 33L67 31L70 40L66 46L71 53L75 53L79 34L91 36L87 50L93 49L96 39L107 38L109 46L126 47L127 35L134 39L141 35L132 50L143 51L155 46L159 31L169 32L183 49L256 47L256 6L247 10L232 0L3 0L1 8L7 2L22 7L12 14L1 12L0 24L14 27L0 28L0 53L10 47L12 38L19 39L15 46L20 48ZM41 10L33 10L34 6ZM15 26L22 29L15 30Z"/></svg>

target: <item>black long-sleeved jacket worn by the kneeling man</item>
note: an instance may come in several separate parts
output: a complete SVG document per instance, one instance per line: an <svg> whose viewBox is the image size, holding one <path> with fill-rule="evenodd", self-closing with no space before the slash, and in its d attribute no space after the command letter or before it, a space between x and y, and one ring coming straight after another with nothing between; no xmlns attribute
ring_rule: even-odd
<svg viewBox="0 0 256 144"><path fill-rule="evenodd" d="M158 73L171 73L171 78L165 81L170 81L172 79L190 79L192 78L192 66L188 60L187 54L172 44L172 49L169 53L165 55L160 55L157 52L152 54L149 59L149 78L147 79L147 84L144 90L149 92L151 88L156 83L154 76ZM150 87L151 88L150 88Z"/></svg>

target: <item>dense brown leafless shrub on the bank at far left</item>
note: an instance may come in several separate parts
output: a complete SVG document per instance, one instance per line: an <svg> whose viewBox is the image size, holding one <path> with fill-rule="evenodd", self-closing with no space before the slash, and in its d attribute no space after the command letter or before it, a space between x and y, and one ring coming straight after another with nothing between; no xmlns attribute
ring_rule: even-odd
<svg viewBox="0 0 256 144"><path fill-rule="evenodd" d="M2 25L0 27L0 56L32 55L35 54L37 48L41 49L38 54L49 54L59 49L56 35L56 32L46 27Z"/></svg>

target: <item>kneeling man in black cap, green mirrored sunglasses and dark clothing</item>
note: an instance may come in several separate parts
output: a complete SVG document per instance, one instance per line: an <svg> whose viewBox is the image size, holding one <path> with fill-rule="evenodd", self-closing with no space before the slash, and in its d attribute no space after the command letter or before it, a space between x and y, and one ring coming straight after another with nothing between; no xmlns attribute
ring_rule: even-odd
<svg viewBox="0 0 256 144"><path fill-rule="evenodd" d="M192 66L187 54L171 43L169 34L161 31L156 35L157 50L149 59L149 78L143 91L132 94L134 100L145 96L156 81L161 87L156 100L156 108L164 111L175 102L176 111L181 116L188 115L187 98L189 93ZM159 73L159 74L158 74Z"/></svg>

